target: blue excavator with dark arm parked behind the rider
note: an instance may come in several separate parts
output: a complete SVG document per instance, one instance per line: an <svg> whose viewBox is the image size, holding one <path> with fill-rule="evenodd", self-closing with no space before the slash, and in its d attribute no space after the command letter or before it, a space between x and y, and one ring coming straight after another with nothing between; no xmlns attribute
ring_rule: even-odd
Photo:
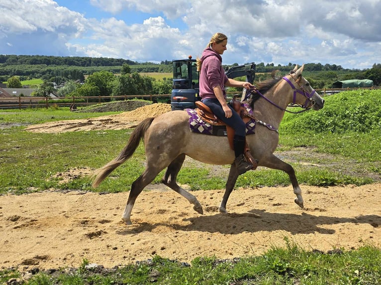
<svg viewBox="0 0 381 285"><path fill-rule="evenodd" d="M171 110L194 109L195 102L200 100L198 78L199 72L196 60L191 56L184 60L174 60L173 88L171 93ZM228 78L246 76L246 81L253 84L255 78L255 63L225 68Z"/></svg>

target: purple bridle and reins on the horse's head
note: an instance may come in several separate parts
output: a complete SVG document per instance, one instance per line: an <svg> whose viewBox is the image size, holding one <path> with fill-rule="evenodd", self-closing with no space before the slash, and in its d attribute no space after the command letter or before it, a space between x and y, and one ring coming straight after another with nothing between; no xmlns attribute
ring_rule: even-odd
<svg viewBox="0 0 381 285"><path fill-rule="evenodd" d="M286 110L285 108L282 108L282 107L278 106L273 101L271 101L270 99L266 98L261 92L259 92L259 90L257 90L256 87L254 87L254 88L249 90L248 94L246 94L246 98L248 98L252 92L255 92L258 95L260 95L262 98L264 98L266 101L268 101L269 103L271 103L274 106L276 106L278 109L281 109L281 110L286 111L288 113L299 114L299 113L308 111L310 108L313 107L313 105L315 105L315 101L312 99L312 96L315 94L316 91L315 91L315 89L313 89L313 91L311 93L307 92L305 90L304 85L300 86L298 80L293 77L294 73L295 73L295 71L291 71L287 75L292 77L292 79L295 81L295 83L297 83L297 85L299 86L299 89L296 88L295 85L292 84L292 82L286 76L282 77L282 79L284 79L290 85L290 87L293 89L292 103L290 103L287 107L301 107L301 108L303 108L303 110L298 111L298 112L291 112L289 110ZM305 101L305 103L303 105L296 104L296 94L297 93L303 95L306 98L306 101Z"/></svg>

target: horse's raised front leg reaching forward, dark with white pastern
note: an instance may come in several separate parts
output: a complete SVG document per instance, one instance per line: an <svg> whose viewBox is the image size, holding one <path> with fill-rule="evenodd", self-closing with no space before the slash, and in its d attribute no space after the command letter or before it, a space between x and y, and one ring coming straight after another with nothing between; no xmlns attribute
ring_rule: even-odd
<svg viewBox="0 0 381 285"><path fill-rule="evenodd" d="M296 195L296 199L294 200L294 202L300 208L303 208L304 207L303 197L301 196L301 190L297 182L297 179L295 176L295 170L293 169L293 167L289 165L288 163L284 162L283 160L281 160L280 158L278 158L277 156L275 156L274 154L272 154L272 156L269 157L269 159L262 159L260 161L262 162L260 163L260 165L262 166L266 166L272 169L283 170L288 174L289 179L291 180L291 183L292 183L293 193Z"/></svg>

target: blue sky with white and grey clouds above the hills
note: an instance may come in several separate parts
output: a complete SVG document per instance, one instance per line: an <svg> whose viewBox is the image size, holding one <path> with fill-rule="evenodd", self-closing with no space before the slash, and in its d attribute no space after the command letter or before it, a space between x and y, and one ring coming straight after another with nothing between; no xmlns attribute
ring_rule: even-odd
<svg viewBox="0 0 381 285"><path fill-rule="evenodd" d="M381 63L381 0L0 0L0 54L197 58L216 32L223 64Z"/></svg>

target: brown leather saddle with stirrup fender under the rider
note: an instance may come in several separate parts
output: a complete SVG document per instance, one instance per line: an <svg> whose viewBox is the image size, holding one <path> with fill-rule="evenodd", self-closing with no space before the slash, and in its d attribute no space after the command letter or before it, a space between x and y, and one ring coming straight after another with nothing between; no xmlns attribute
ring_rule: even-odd
<svg viewBox="0 0 381 285"><path fill-rule="evenodd" d="M249 115L247 112L246 108L243 106L243 104L236 99L236 95L233 96L233 99L229 102L230 106L233 107L234 111L236 111L244 123L247 123L252 116ZM226 125L224 122L222 122L220 119L218 119L212 112L212 110L206 106L204 103L201 101L196 101L195 102L196 109L195 111L197 112L197 115L201 118L201 120L205 121L206 123L213 125L213 126L226 126L226 133L227 133L227 138L229 141L230 148L234 150L234 129L228 125ZM252 165L253 168L252 170L255 170L258 166L258 161L254 159L254 157L251 155L250 152L250 147L247 142L245 142L245 147L244 147L244 155L247 161L249 161Z"/></svg>

